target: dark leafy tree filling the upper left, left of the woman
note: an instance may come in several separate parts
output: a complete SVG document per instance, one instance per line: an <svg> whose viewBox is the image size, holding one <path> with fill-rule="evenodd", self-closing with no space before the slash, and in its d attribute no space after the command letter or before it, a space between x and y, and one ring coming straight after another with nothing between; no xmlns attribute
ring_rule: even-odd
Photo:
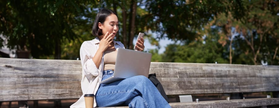
<svg viewBox="0 0 279 108"><path fill-rule="evenodd" d="M72 30L89 12L87 1L3 0L0 2L1 33L9 39L10 48L30 51L38 58L55 55L60 59L63 39L78 36Z"/></svg>

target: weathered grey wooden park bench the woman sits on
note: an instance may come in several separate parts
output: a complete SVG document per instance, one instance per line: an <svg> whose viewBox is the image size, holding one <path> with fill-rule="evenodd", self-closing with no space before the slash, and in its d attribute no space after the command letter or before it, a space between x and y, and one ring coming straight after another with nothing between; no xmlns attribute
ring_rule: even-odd
<svg viewBox="0 0 279 108"><path fill-rule="evenodd" d="M0 58L0 61L0 102L74 99L82 95L79 60ZM169 96L279 91L279 66L152 62L149 72L156 73ZM170 105L172 108L262 107L279 105L279 98L277 94L273 98L172 102Z"/></svg>

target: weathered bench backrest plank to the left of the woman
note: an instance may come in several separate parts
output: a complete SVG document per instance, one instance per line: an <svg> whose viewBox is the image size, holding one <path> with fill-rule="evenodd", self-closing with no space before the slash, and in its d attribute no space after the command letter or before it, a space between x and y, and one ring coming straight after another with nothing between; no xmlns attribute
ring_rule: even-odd
<svg viewBox="0 0 279 108"><path fill-rule="evenodd" d="M77 60L0 58L0 101L79 98Z"/></svg>

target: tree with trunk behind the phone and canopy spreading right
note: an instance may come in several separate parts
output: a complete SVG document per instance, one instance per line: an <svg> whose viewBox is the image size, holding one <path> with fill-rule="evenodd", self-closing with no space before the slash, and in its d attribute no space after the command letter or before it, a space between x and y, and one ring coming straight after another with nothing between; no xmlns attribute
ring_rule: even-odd
<svg viewBox="0 0 279 108"><path fill-rule="evenodd" d="M133 47L132 40L137 32L156 32L160 34L156 36L156 39L167 37L180 41L193 40L200 36L196 34L195 30L208 23L213 15L222 12L225 8L222 2L194 0L186 2L178 0L131 2L107 0L101 4L103 4L101 7L117 11L121 25L119 29L121 35L118 39L130 49Z"/></svg>

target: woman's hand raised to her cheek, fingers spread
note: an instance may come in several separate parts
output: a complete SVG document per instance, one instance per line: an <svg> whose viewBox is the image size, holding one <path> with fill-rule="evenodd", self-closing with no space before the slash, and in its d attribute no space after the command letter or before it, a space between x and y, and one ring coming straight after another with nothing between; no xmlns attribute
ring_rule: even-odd
<svg viewBox="0 0 279 108"><path fill-rule="evenodd" d="M101 51L105 51L108 47L109 44L112 43L113 38L112 35L113 33L109 34L109 32L105 33L104 37L100 39L100 44L99 44L99 48L101 48Z"/></svg>

